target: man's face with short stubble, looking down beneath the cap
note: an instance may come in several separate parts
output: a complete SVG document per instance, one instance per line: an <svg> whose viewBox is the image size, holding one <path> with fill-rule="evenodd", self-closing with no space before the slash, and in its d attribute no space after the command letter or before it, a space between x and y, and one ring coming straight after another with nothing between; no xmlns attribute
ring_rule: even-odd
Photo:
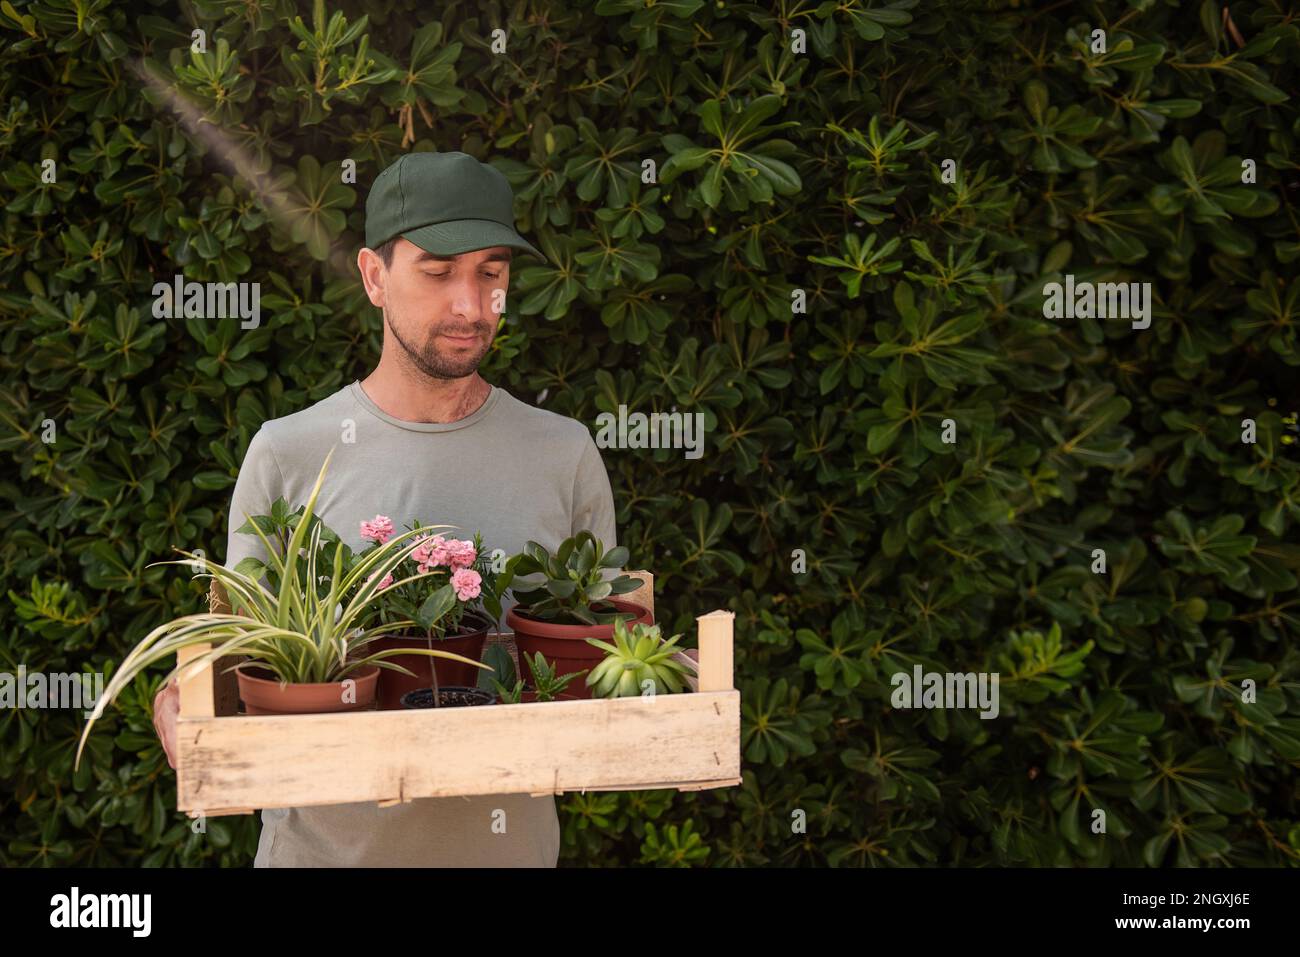
<svg viewBox="0 0 1300 957"><path fill-rule="evenodd" d="M367 255L369 254L369 255ZM359 259L370 302L411 363L430 378L473 374L497 335L510 286L507 246L436 256L398 238L393 264L369 250Z"/></svg>

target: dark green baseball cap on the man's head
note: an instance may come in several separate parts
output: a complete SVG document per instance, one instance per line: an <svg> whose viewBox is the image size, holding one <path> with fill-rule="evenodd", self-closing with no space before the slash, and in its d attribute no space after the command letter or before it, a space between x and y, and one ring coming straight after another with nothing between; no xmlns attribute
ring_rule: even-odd
<svg viewBox="0 0 1300 957"><path fill-rule="evenodd" d="M365 198L365 244L400 235L438 256L510 246L549 263L515 231L506 176L462 152L406 153L374 177Z"/></svg>

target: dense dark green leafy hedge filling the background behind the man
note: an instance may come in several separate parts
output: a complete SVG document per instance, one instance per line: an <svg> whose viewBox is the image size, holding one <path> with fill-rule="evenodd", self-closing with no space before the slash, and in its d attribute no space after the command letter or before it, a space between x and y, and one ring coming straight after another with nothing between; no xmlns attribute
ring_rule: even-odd
<svg viewBox="0 0 1300 957"><path fill-rule="evenodd" d="M485 376L702 413L699 459L604 462L663 627L737 615L744 784L567 794L564 862L1300 862L1291 7L543 7L0 4L0 668L204 607L153 563L220 555L260 424L378 356L367 185L463 150L551 260ZM181 269L260 326L155 320ZM1066 273L1150 326L1045 319ZM1000 716L890 709L916 664ZM164 671L75 772L78 714L0 713L0 865L247 865L255 818L174 811Z"/></svg>

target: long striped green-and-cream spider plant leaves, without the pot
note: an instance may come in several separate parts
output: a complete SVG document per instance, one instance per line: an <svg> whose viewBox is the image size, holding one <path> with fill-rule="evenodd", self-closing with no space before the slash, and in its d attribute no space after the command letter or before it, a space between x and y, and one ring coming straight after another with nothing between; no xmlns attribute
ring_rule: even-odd
<svg viewBox="0 0 1300 957"><path fill-rule="evenodd" d="M187 558L153 563L190 567L198 563L203 568L202 575L216 579L225 586L231 601L238 602L235 607L240 614L185 615L146 635L126 654L104 688L104 693L95 702L95 710L86 720L86 728L77 745L77 765L81 763L81 754L91 728L117 694L146 668L190 645L212 645L212 648L185 666L178 663L164 679L165 681L181 675L188 677L228 655L248 655L285 684L342 681L352 672L370 666L411 675L412 672L402 666L384 661L399 654L451 658L480 668L488 667L451 651L434 649L403 648L364 654L365 645L374 640L374 635L359 628L358 623L377 601L378 586L384 577L419 547L420 536L450 527L429 525L410 529L394 536L373 551L354 557L351 562L344 560L347 546L338 541L337 536L322 547L322 537L328 538L330 533L324 523L313 521L313 518L316 499L333 455L332 449L316 477L306 510L282 549L283 554L280 554L281 549L272 544L257 521L250 523L270 558L268 570L276 573L268 575L268 579L276 583L276 590L263 585L254 575L225 568L204 555L182 549L177 551ZM328 547L329 545L333 547ZM320 586L325 572L320 563L330 560L330 554L333 560L328 570L326 590ZM394 584L402 585L425 573L419 572ZM415 625L416 622L396 624Z"/></svg>

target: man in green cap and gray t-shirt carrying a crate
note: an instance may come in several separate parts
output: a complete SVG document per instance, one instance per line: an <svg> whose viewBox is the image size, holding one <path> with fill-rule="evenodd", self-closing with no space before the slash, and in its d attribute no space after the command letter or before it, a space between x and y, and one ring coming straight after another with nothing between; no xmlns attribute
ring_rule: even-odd
<svg viewBox="0 0 1300 957"><path fill-rule="evenodd" d="M263 424L230 507L226 567L261 554L235 534L283 495L306 502L337 446L317 514L354 549L360 523L386 515L481 532L507 555L529 540L554 549L581 529L612 547L614 497L588 428L528 406L478 374L510 285L511 251L545 260L514 228L504 176L462 152L408 153L376 178L356 259L384 312L384 351L365 380ZM155 701L173 754L177 693ZM174 766L174 765L173 765ZM493 828L504 811L504 833ZM494 794L266 809L256 867L554 867L554 797Z"/></svg>

